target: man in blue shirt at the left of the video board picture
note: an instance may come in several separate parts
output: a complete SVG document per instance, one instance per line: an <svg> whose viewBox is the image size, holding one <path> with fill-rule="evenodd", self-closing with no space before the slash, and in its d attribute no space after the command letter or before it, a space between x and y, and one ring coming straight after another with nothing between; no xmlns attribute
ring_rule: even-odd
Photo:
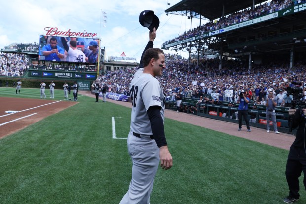
<svg viewBox="0 0 306 204"><path fill-rule="evenodd" d="M42 48L42 54L47 61L61 61L64 58L64 49L57 45L57 39L52 37L50 44Z"/></svg>

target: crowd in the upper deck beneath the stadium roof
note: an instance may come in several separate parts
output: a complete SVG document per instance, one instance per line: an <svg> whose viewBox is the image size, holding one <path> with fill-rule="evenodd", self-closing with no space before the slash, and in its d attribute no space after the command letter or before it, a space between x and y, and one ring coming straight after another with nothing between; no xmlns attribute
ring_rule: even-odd
<svg viewBox="0 0 306 204"><path fill-rule="evenodd" d="M268 15L270 13L286 9L289 6L305 2L306 0L271 0L264 4L258 5L254 8L254 10L248 8L243 11L238 11L228 16L221 17L219 20L216 19L214 21L203 24L202 26L193 28L192 30L185 31L184 34L176 37L175 39L164 42L163 45L176 41L182 41L184 39L198 36L206 32L215 31L227 26L258 18L260 16Z"/></svg>

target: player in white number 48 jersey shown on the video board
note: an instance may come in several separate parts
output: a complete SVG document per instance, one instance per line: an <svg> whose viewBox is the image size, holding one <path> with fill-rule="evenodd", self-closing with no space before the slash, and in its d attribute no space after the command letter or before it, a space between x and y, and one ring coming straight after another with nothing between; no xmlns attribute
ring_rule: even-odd
<svg viewBox="0 0 306 204"><path fill-rule="evenodd" d="M62 37L62 42L64 49L67 51L68 56L66 58L67 62L86 62L85 54L77 49L77 41L70 41L70 46L67 45L65 37Z"/></svg>

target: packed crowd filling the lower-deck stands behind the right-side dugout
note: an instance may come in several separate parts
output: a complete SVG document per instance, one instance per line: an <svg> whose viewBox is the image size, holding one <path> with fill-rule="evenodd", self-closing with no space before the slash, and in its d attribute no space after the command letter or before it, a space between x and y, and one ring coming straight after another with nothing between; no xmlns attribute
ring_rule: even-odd
<svg viewBox="0 0 306 204"><path fill-rule="evenodd" d="M183 97L199 98L201 95L218 93L220 101L236 101L240 91L248 91L249 97L259 100L273 89L275 95L292 81L302 82L306 87L306 64L297 63L289 69L289 64L271 63L253 65L248 70L247 63L240 60L227 60L219 70L219 59L203 59L196 61L181 59L177 55L166 54L166 69L159 80L164 88L167 100L175 100L175 93L180 91ZM129 84L135 69L108 71L98 77L98 81L106 83L111 92L129 95ZM259 90L260 89L260 90ZM233 90L233 97L224 97L225 90ZM304 90L305 91L305 90ZM306 91L303 92L306 94ZM252 96L253 95L253 96ZM305 97L303 98L305 100ZM260 101L259 101L260 102Z"/></svg>

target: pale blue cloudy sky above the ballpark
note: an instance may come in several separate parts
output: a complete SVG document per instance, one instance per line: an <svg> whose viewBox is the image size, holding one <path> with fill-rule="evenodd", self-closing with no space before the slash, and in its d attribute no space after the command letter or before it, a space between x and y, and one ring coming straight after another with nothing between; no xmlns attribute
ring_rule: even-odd
<svg viewBox="0 0 306 204"><path fill-rule="evenodd" d="M124 52L127 57L136 58L139 62L149 40L149 30L139 23L140 12L153 10L159 17L160 25L154 47L161 48L163 42L190 29L187 17L167 16L164 12L178 2L180 0L1 1L0 48L14 42L38 43L39 35L46 34L45 27L57 27L60 31L70 29L97 33L101 38L101 46L106 49L106 58L120 56ZM106 27L103 26L101 11L106 13ZM198 25L199 21L193 19L192 28ZM187 57L184 52L179 54Z"/></svg>

